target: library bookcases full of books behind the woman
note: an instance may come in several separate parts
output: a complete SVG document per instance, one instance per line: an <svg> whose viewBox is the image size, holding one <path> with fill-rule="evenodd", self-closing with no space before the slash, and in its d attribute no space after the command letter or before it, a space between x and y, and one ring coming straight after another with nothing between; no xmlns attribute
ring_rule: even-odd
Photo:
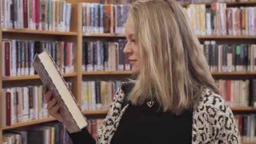
<svg viewBox="0 0 256 144"><path fill-rule="evenodd" d="M72 143L50 117L31 67L48 50L96 137L121 81L131 76L124 25L131 0L1 0L0 141ZM182 0L243 144L256 143L256 1Z"/></svg>

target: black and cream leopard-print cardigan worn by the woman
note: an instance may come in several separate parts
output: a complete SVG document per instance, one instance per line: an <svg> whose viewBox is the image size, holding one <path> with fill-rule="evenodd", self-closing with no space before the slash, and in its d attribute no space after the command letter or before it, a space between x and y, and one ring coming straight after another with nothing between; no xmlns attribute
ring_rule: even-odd
<svg viewBox="0 0 256 144"><path fill-rule="evenodd" d="M115 93L108 115L98 130L96 143L110 143L115 134L120 119L129 106L129 104L122 106L125 98L123 89L120 86ZM194 104L192 143L241 143L232 111L223 98L210 89L205 89L202 99Z"/></svg>

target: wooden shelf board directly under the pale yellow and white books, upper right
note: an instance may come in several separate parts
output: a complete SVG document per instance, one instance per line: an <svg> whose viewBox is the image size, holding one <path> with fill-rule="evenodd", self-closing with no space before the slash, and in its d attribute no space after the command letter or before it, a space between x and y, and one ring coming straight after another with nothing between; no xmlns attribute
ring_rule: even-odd
<svg viewBox="0 0 256 144"><path fill-rule="evenodd" d="M197 35L199 39L256 39L254 35Z"/></svg>

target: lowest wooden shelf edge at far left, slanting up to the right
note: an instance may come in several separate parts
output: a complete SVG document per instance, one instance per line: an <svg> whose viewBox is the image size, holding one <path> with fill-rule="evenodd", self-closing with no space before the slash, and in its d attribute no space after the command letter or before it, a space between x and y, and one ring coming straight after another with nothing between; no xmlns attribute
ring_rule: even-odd
<svg viewBox="0 0 256 144"><path fill-rule="evenodd" d="M25 127L25 126L28 126L28 125L45 123L45 122L51 122L51 121L55 121L55 120L56 119L53 118L53 117L43 118L43 119L36 119L36 120L32 120L32 121L27 121L27 122L15 123L15 124L13 124L11 126L3 127L2 130L13 129L13 128L20 128L20 127Z"/></svg>

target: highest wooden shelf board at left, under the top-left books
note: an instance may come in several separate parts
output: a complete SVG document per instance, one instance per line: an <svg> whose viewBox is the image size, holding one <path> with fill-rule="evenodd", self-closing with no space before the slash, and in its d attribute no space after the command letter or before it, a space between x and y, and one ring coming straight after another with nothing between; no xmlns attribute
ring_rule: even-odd
<svg viewBox="0 0 256 144"><path fill-rule="evenodd" d="M15 28L3 28L2 32L6 32L6 33L48 34L48 35L78 35L77 32L44 31L44 30L15 29Z"/></svg>

